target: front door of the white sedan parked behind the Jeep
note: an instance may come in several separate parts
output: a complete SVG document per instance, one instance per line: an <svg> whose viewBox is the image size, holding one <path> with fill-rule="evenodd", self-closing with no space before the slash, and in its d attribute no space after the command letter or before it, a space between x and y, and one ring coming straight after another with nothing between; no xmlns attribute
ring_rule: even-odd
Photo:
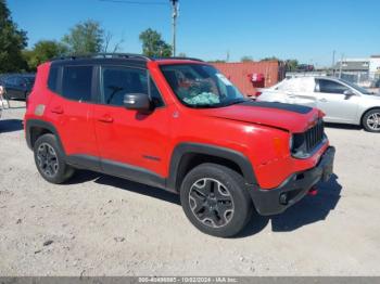
<svg viewBox="0 0 380 284"><path fill-rule="evenodd" d="M350 88L331 79L317 79L317 107L324 111L326 121L355 122L358 108L358 95L347 96L344 91Z"/></svg>

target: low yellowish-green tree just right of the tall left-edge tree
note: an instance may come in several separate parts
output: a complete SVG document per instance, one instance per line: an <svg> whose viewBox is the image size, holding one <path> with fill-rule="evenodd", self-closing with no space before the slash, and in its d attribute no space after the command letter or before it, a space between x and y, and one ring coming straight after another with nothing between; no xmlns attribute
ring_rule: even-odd
<svg viewBox="0 0 380 284"><path fill-rule="evenodd" d="M65 55L66 53L67 48L54 40L40 40L34 46L33 50L25 50L23 52L29 70L36 70L37 66L42 62Z"/></svg>

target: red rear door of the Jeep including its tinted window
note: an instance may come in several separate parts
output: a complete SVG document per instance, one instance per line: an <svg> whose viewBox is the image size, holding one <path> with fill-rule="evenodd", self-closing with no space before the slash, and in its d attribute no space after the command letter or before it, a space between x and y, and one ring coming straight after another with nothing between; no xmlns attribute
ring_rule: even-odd
<svg viewBox="0 0 380 284"><path fill-rule="evenodd" d="M73 65L51 67L50 70L58 77L58 95L52 95L49 117L58 128L66 155L73 163L86 164L88 168L91 164L99 166L92 117L94 69L92 65Z"/></svg>

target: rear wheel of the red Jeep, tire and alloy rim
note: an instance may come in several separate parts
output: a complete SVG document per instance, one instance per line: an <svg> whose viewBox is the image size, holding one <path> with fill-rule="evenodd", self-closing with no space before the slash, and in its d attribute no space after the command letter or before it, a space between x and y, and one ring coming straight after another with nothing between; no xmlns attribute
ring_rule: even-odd
<svg viewBox="0 0 380 284"><path fill-rule="evenodd" d="M37 169L45 180L60 184L73 177L75 170L64 162L55 135L39 137L34 145L34 154Z"/></svg>

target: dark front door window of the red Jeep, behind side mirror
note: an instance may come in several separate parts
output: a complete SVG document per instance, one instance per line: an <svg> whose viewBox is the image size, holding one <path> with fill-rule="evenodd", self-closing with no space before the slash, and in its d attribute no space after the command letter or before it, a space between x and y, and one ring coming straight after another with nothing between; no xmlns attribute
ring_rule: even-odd
<svg viewBox="0 0 380 284"><path fill-rule="evenodd" d="M145 93L151 96L155 107L164 105L159 90L153 80L149 79L144 69L124 67L103 68L102 92L105 104L122 106L124 105L124 95L128 93Z"/></svg>

